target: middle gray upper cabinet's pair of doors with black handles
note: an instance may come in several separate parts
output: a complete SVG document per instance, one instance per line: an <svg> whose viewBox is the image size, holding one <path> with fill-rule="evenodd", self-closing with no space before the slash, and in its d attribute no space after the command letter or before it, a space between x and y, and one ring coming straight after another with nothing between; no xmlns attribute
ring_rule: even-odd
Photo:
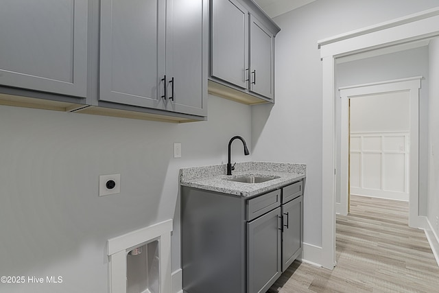
<svg viewBox="0 0 439 293"><path fill-rule="evenodd" d="M102 0L99 101L206 116L207 1Z"/></svg>

